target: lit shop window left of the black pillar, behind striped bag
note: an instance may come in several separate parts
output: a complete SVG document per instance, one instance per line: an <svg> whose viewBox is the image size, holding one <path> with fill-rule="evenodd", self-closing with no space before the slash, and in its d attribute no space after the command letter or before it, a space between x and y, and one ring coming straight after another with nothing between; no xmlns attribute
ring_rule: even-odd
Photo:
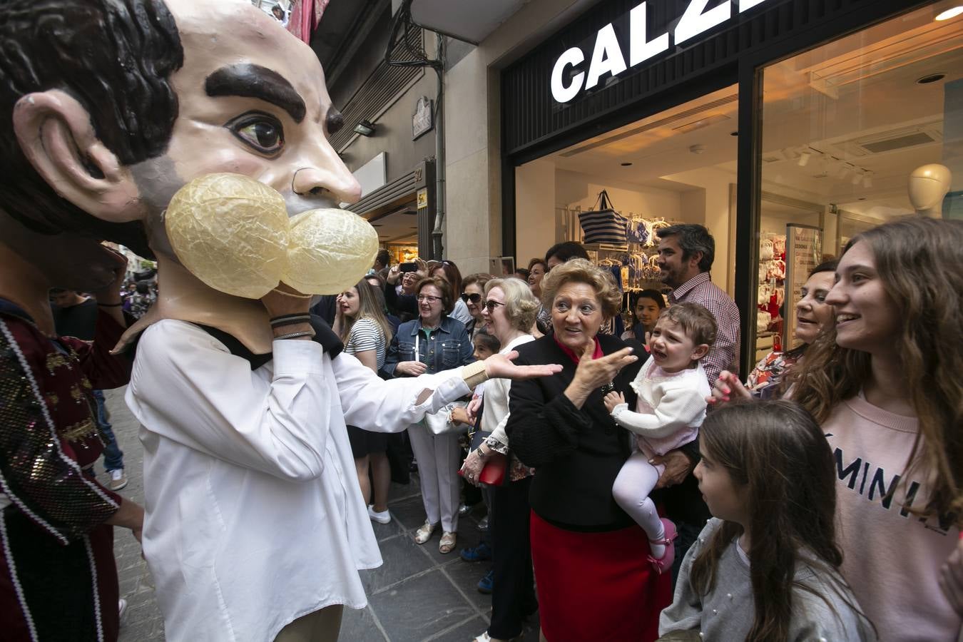
<svg viewBox="0 0 963 642"><path fill-rule="evenodd" d="M659 227L700 223L716 239L712 278L733 290L738 91L717 90L619 127L515 169L518 265L561 241L586 245L589 256L631 291L667 292L654 257ZM627 219L621 238L591 243L580 214L605 191Z"/></svg>

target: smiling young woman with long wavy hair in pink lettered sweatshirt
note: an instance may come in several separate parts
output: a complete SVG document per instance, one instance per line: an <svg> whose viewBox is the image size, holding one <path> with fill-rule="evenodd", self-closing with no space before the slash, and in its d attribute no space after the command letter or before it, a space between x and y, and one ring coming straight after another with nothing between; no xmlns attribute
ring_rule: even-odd
<svg viewBox="0 0 963 642"><path fill-rule="evenodd" d="M940 590L963 482L963 221L853 237L826 296L836 325L791 374L834 450L843 575L883 640L956 640Z"/></svg>

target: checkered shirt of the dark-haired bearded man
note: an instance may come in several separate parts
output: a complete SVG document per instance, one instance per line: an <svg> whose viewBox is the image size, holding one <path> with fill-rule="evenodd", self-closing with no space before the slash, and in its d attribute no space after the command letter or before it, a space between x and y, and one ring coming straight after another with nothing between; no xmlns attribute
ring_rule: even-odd
<svg viewBox="0 0 963 642"><path fill-rule="evenodd" d="M724 370L738 374L740 328L735 301L710 280L709 272L699 272L668 295L669 303L682 301L701 303L716 318L716 345L702 357L709 385L713 385L719 372Z"/></svg>

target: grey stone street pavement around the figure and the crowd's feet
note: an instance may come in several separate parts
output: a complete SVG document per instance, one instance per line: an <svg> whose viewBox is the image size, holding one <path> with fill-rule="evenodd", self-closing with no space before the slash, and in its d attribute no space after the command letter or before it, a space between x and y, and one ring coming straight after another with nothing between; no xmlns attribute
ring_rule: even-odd
<svg viewBox="0 0 963 642"><path fill-rule="evenodd" d="M143 503L143 450L137 437L138 424L123 402L123 390L105 392L114 434L124 452L130 479L121 495ZM478 580L487 573L488 564L465 563L457 551L478 543L481 536L478 520L484 509L460 520L457 549L443 555L438 552L439 532L424 546L418 546L411 539L414 530L425 522L417 475L412 475L411 483L406 486L392 483L388 508L391 523L373 524L384 564L362 571L369 603L360 611L345 609L340 639L347 642L469 642L486 628L491 612L491 598L481 595L476 588ZM154 600L153 582L141 557L140 545L130 531L117 528L116 533L114 552L120 597L127 600L127 612L120 623L120 642L163 640L164 622ZM526 626L523 639L525 642L538 639L537 614Z"/></svg>

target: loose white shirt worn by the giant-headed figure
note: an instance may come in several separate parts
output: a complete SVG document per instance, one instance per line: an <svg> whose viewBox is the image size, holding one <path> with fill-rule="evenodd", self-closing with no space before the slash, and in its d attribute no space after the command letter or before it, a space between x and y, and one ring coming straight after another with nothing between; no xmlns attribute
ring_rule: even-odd
<svg viewBox="0 0 963 642"><path fill-rule="evenodd" d="M468 392L460 369L384 381L310 341L274 341L251 371L191 323L147 328L126 401L167 639L270 641L327 605L363 607L358 570L381 556L345 425L398 432Z"/></svg>

